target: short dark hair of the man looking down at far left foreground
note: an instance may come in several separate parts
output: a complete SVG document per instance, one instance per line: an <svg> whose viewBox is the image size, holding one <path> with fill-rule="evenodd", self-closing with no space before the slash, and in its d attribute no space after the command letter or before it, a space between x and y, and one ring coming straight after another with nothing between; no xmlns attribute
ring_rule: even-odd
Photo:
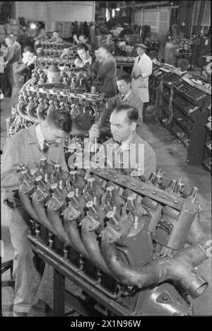
<svg viewBox="0 0 212 331"><path fill-rule="evenodd" d="M52 108L47 113L47 122L66 133L71 132L72 120L68 110Z"/></svg>

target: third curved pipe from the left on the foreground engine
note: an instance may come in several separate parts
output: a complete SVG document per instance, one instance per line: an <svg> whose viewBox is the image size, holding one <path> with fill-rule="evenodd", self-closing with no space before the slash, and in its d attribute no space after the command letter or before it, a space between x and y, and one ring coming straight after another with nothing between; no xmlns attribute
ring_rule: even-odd
<svg viewBox="0 0 212 331"><path fill-rule="evenodd" d="M69 236L67 235L64 226L62 224L61 218L59 216L59 210L63 207L64 203L60 199L51 197L47 202L47 217L49 222L52 224L54 230L57 232L57 236L62 243L66 245L71 245Z"/></svg>

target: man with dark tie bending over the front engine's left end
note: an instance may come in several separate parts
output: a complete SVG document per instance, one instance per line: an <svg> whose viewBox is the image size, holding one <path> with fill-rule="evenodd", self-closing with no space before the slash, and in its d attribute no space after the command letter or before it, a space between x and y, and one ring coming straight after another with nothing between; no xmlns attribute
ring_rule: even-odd
<svg viewBox="0 0 212 331"><path fill-rule="evenodd" d="M27 316L30 308L45 310L46 305L37 298L40 274L33 263L33 250L28 240L30 216L18 196L18 187L23 175L17 167L27 164L35 172L40 158L48 163L59 163L68 170L64 158L64 136L71 132L71 115L66 110L50 110L40 124L22 129L14 134L4 146L1 161L1 188L5 192L4 202L11 209L11 243L15 256L13 276L16 280L13 317Z"/></svg>

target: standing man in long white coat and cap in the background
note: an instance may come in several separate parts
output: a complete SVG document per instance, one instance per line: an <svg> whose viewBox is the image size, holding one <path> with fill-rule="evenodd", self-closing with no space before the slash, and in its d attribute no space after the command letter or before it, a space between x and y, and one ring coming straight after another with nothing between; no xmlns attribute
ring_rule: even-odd
<svg viewBox="0 0 212 331"><path fill-rule="evenodd" d="M131 72L132 91L143 101L143 112L145 112L146 104L149 102L148 76L153 71L151 58L145 53L146 48L144 44L136 44L136 51L139 56L135 58Z"/></svg>

